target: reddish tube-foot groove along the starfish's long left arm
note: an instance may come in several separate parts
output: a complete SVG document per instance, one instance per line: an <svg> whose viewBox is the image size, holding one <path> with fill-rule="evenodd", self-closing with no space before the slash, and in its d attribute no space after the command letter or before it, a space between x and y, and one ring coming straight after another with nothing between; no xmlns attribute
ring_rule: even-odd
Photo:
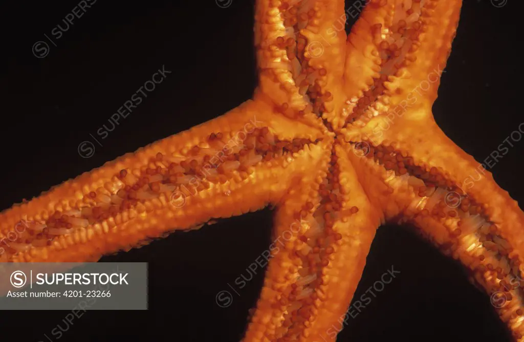
<svg viewBox="0 0 524 342"><path fill-rule="evenodd" d="M187 198L205 197L231 182L245 181L262 163L292 159L320 141L281 139L266 126L251 128L237 141L230 139L230 132L213 132L205 142L177 153L166 149L150 153L133 167L96 181L94 189L84 186L75 192L74 199L60 198L63 204L58 209L25 215L10 229L3 222L0 236L7 239L2 238L0 262L29 261L37 249L50 246L60 249L85 244L100 231L148 212L169 205L182 207ZM17 232L15 240L9 236L13 229ZM139 244L148 238L144 236Z"/></svg>

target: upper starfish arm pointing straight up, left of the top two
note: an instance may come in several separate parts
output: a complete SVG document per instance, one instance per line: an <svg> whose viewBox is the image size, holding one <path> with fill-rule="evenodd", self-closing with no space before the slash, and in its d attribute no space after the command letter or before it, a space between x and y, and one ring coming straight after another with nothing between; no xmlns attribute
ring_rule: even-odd
<svg viewBox="0 0 524 342"><path fill-rule="evenodd" d="M318 116L341 107L344 25L341 0L257 1L259 96L283 115L324 128Z"/></svg>

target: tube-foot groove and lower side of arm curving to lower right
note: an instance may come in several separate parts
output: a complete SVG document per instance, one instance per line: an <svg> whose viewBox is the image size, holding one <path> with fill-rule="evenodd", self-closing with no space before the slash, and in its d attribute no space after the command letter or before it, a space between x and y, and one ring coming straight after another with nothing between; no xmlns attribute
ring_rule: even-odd
<svg viewBox="0 0 524 342"><path fill-rule="evenodd" d="M476 200L436 167L417 164L392 146L353 143L355 153L383 169L387 192L400 200L402 222L430 225L420 231L441 252L461 260L470 280L492 295L492 303L519 339L524 321L524 271L518 248L504 224L490 218L486 203ZM511 320L511 321L510 321Z"/></svg>

